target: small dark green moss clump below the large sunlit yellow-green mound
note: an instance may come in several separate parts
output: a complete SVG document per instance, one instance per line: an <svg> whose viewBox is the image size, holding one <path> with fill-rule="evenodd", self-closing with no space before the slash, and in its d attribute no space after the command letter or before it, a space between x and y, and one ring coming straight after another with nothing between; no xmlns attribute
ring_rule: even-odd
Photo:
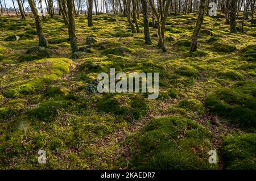
<svg viewBox="0 0 256 181"><path fill-rule="evenodd" d="M29 109L27 113L30 117L39 120L52 121L51 118L57 115L58 110L63 110L67 107L67 103L61 100L45 100L38 107Z"/></svg>

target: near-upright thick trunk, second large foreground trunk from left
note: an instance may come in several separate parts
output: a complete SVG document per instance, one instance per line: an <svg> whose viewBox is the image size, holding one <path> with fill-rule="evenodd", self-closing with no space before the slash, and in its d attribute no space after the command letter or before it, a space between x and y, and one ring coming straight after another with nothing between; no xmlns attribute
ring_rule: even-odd
<svg viewBox="0 0 256 181"><path fill-rule="evenodd" d="M76 44L76 25L75 25L75 14L74 14L74 1L67 0L68 7L68 32L71 45L71 52L75 53L78 51Z"/></svg>

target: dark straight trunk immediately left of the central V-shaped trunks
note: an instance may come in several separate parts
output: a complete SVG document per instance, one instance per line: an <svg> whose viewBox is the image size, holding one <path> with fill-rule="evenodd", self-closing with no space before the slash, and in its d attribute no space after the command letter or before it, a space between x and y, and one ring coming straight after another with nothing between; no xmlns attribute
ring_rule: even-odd
<svg viewBox="0 0 256 181"><path fill-rule="evenodd" d="M146 0L141 0L143 11L143 26L144 26L144 39L147 45L151 45L150 31L148 28L148 6Z"/></svg>

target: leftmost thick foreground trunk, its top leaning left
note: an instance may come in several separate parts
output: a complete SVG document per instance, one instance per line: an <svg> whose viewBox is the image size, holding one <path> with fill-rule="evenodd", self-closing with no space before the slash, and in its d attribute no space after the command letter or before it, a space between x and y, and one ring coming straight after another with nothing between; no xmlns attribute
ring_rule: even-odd
<svg viewBox="0 0 256 181"><path fill-rule="evenodd" d="M39 47L48 47L48 41L43 34L42 21L40 16L38 15L38 10L35 7L34 0L28 0L28 3L30 4L31 11L35 17L36 32L39 38Z"/></svg>

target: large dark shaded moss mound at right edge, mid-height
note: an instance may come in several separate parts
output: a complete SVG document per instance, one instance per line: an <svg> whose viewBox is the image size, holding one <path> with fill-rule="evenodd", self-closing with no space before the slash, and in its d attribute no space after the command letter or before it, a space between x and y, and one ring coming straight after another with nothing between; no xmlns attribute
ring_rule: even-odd
<svg viewBox="0 0 256 181"><path fill-rule="evenodd" d="M241 128L256 128L255 83L220 89L205 99L207 108Z"/></svg>

